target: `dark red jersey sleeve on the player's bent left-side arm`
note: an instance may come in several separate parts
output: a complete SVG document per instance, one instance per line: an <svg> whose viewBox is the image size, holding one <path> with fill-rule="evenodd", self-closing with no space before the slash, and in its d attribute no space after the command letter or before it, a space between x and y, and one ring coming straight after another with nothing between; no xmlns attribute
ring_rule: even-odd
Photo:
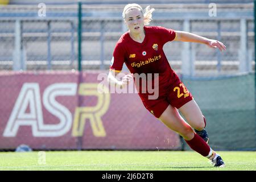
<svg viewBox="0 0 256 182"><path fill-rule="evenodd" d="M121 72L123 63L125 62L125 51L121 43L117 43L114 48L113 57L110 63L109 70Z"/></svg>

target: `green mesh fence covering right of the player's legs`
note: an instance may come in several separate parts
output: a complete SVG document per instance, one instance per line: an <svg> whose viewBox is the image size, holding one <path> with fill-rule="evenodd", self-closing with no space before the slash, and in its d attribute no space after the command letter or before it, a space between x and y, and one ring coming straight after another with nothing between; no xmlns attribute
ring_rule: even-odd
<svg viewBox="0 0 256 182"><path fill-rule="evenodd" d="M207 119L215 150L256 150L254 74L183 78ZM186 148L187 149L187 148Z"/></svg>

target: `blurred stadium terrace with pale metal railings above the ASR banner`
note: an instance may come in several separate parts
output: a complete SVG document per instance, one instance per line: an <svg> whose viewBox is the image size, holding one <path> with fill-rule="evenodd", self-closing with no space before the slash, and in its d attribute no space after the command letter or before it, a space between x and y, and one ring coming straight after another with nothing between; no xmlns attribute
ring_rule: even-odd
<svg viewBox="0 0 256 182"><path fill-rule="evenodd" d="M191 43L168 44L166 55L172 67L190 76L209 74L209 70L211 74L253 71L253 5L241 6L239 11L239 6L220 8L217 16L209 16L207 5L156 9L152 26L193 32L228 43L228 51L224 53ZM115 43L126 31L122 9L82 7L82 67L108 69ZM0 26L2 47L7 44L13 49L13 52L0 51L2 69L77 68L76 5L49 7L43 17L38 16L35 7L1 11Z"/></svg>

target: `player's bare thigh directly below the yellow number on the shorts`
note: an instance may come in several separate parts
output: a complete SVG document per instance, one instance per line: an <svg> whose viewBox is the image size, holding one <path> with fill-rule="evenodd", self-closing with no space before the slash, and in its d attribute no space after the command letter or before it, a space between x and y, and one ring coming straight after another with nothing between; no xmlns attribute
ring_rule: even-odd
<svg viewBox="0 0 256 182"><path fill-rule="evenodd" d="M187 104L181 106L179 110L190 126L196 130L204 129L204 116L195 100L189 101Z"/></svg>

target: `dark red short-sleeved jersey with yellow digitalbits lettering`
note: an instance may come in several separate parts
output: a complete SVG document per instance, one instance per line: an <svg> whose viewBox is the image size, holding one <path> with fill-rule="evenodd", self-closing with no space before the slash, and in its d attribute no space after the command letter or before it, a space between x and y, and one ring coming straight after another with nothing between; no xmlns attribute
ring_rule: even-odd
<svg viewBox="0 0 256 182"><path fill-rule="evenodd" d="M159 73L159 96L163 96L179 79L163 51L164 44L174 40L176 32L160 26L144 26L144 31L146 36L142 43L131 39L128 32L121 36L114 49L110 70L119 72L125 63L131 73ZM139 92L139 96L145 100L148 94Z"/></svg>

